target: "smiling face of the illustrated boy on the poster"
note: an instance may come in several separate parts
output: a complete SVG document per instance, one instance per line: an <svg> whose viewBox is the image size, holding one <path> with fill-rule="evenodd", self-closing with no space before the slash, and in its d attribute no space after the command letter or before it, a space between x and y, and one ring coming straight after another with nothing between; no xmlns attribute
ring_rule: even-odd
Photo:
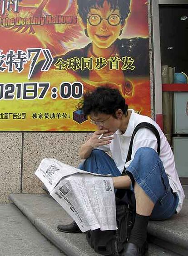
<svg viewBox="0 0 188 256"><path fill-rule="evenodd" d="M109 15L115 14L119 15L119 9L111 9L110 5L106 0L104 0L103 7L96 6L90 9L90 13L88 14L88 18L90 15L97 14L102 19L107 19ZM117 16L111 16L112 21ZM98 17L99 17L98 16ZM93 19L96 19L93 16ZM123 25L119 23L118 25L110 25L108 20L101 20L99 25L90 25L87 22L87 32L89 38L92 42L99 48L107 49L110 45L114 43L114 41L118 38L120 30L123 28Z"/></svg>

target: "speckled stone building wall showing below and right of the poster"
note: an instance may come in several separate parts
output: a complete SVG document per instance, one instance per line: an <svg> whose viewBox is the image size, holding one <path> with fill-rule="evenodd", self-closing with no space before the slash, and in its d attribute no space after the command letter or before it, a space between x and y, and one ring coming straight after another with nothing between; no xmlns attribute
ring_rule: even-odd
<svg viewBox="0 0 188 256"><path fill-rule="evenodd" d="M153 115L153 55L150 5L148 1L150 39L151 110ZM44 158L55 158L77 167L81 162L79 146L87 141L86 132L0 132L0 203L9 202L10 193L45 193L35 171Z"/></svg>

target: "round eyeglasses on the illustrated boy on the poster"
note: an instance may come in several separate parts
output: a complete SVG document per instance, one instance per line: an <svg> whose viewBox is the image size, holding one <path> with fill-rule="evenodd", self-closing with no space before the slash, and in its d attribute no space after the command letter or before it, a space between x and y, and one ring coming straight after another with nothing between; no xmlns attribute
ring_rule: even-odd
<svg viewBox="0 0 188 256"><path fill-rule="evenodd" d="M92 26L99 25L102 20L107 20L111 26L117 26L122 21L118 14L111 14L107 19L103 19L99 14L92 14L86 20L88 20L89 24Z"/></svg>

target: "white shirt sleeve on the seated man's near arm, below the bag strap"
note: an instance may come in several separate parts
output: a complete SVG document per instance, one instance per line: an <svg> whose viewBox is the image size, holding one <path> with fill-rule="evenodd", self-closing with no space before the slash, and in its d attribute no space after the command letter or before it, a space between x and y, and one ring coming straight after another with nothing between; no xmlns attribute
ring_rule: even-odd
<svg viewBox="0 0 188 256"><path fill-rule="evenodd" d="M133 140L131 160L125 164L125 167L128 167L130 165L131 161L134 159L136 151L139 148L150 147L157 152L157 146L157 138L153 134L153 132L148 130L147 128L140 128L139 131L137 131Z"/></svg>

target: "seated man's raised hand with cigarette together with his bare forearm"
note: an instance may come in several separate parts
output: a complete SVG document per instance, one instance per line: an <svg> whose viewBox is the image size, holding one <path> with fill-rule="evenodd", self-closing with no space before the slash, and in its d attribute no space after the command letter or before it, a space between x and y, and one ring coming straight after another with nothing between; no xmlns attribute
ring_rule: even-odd
<svg viewBox="0 0 188 256"><path fill-rule="evenodd" d="M99 137L101 134L104 134L101 139ZM109 132L108 130L98 130L93 133L93 135L89 138L88 141L86 141L79 150L79 156L82 159L86 159L90 156L92 150L95 147L108 145L111 143L111 141L114 139L114 137L108 137L112 136L113 132Z"/></svg>

